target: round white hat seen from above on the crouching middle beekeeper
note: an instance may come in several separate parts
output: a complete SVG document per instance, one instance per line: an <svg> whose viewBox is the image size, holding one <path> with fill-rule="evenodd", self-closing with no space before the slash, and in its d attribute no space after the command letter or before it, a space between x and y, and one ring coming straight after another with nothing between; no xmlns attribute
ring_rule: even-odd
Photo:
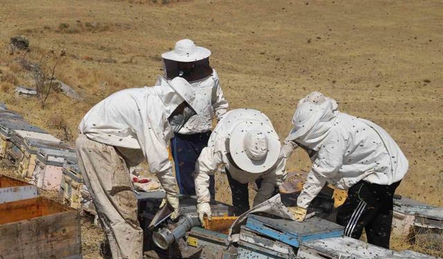
<svg viewBox="0 0 443 259"><path fill-rule="evenodd" d="M263 173L277 162L280 140L271 126L259 120L247 120L230 133L229 150L239 169Z"/></svg>

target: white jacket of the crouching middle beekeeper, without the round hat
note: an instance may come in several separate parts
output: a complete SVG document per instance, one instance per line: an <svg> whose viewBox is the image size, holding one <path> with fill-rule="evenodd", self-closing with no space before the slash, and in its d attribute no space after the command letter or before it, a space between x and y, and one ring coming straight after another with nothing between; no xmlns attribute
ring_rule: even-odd
<svg viewBox="0 0 443 259"><path fill-rule="evenodd" d="M244 166L243 164L238 164L235 166L233 165L233 160L230 160L229 155L232 157L232 153L234 152L229 148L230 141L241 141L241 138L235 135L239 134L235 132L235 129L241 124L248 124L252 127L266 130L266 133L270 134L269 140L276 140L278 143L276 143L275 148L273 148L275 149L276 153L275 158L273 158L271 166L268 166L265 171L260 173L244 171L237 167L242 167ZM246 131L246 128L244 131ZM271 144L269 150L271 150ZM244 150L241 150L239 152L243 153L243 151ZM230 172L232 178L242 184L253 182L257 178L263 178L262 186L255 196L254 204L264 202L264 200L271 197L275 186L278 186L284 182L284 166L286 160L284 160L282 157L278 157L279 153L280 142L278 140L278 135L273 130L271 121L268 117L266 117L266 115L264 115L264 113L253 109L236 109L229 111L215 127L210 136L208 146L201 151L199 159L197 160L195 168L195 189L197 193L197 202L199 204L207 204L210 201L210 193L208 190L209 175L215 173L220 165L226 166L226 169Z"/></svg>

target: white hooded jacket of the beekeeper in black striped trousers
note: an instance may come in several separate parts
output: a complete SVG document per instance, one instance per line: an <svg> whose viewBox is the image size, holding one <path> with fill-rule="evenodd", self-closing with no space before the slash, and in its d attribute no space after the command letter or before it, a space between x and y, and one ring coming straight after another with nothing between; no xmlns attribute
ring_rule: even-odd
<svg viewBox="0 0 443 259"><path fill-rule="evenodd" d="M336 101L321 93L310 95L300 100L287 137L312 161L298 207L306 209L325 183L349 189L360 180L389 185L404 177L408 160L383 128L337 111Z"/></svg>

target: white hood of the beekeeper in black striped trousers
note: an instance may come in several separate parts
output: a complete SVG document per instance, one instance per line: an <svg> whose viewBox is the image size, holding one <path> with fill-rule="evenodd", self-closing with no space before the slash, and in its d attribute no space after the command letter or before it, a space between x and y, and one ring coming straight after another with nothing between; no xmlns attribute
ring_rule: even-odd
<svg viewBox="0 0 443 259"><path fill-rule="evenodd" d="M286 140L315 146L327 135L338 113L336 100L320 92L312 92L300 99L292 117L293 128Z"/></svg>

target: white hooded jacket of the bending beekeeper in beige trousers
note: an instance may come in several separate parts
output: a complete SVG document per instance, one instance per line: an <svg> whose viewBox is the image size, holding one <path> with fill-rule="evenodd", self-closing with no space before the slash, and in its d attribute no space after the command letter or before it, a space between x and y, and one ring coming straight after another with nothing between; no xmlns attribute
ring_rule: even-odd
<svg viewBox="0 0 443 259"><path fill-rule="evenodd" d="M163 80L159 86L121 90L96 104L79 130L89 140L118 148L129 165L145 158L166 193L177 196L167 149L174 137L168 117L179 104L185 100L192 104L194 98L194 90L181 78L170 84Z"/></svg>

